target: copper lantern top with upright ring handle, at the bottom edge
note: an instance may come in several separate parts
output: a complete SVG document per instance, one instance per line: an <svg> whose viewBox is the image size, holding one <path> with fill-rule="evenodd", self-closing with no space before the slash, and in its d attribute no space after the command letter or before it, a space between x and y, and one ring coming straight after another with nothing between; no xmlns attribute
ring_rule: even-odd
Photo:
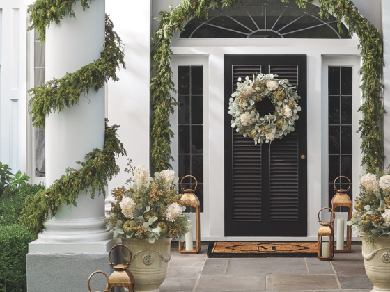
<svg viewBox="0 0 390 292"><path fill-rule="evenodd" d="M128 269L130 266L130 262L132 261L132 251L127 248L130 252L130 259L126 264L118 264L114 266L114 263L111 261L111 251L114 250L114 248L117 248L118 246L121 246L123 248L127 248L126 245L123 244L117 244L114 245L111 250L109 251L109 261L110 266L114 268L114 272L111 273L108 280L108 290L110 292L114 292L115 287L125 287L129 290L129 292L135 291L135 279L133 274Z"/></svg>

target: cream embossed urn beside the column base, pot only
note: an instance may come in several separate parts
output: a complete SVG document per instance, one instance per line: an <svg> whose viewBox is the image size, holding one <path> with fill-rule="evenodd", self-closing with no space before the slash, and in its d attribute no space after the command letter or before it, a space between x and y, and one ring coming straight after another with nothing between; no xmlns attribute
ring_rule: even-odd
<svg viewBox="0 0 390 292"><path fill-rule="evenodd" d="M130 271L135 278L136 292L159 292L171 259L171 241L172 238L165 238L149 243L147 239L122 238L122 243L132 251ZM125 248L122 257L125 261L130 257Z"/></svg>

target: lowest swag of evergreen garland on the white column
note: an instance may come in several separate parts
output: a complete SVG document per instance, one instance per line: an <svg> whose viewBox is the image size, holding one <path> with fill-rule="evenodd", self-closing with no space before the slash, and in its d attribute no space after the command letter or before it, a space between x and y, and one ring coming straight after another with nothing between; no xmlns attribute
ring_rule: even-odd
<svg viewBox="0 0 390 292"><path fill-rule="evenodd" d="M54 217L60 205L77 206L77 197L86 191L95 197L95 193L106 195L107 180L118 175L120 168L116 165L116 156L126 155L123 144L116 137L118 126L107 126L104 136L104 148L93 149L86 154L85 161L76 161L80 169L67 168L65 175L54 181L49 188L39 193L28 195L25 200L21 225L34 234L43 229L43 222L48 216Z"/></svg>

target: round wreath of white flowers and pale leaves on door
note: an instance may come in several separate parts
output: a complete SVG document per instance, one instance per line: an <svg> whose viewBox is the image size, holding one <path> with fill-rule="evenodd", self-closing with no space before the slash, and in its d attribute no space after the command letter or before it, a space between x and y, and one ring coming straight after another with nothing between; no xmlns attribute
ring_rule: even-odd
<svg viewBox="0 0 390 292"><path fill-rule="evenodd" d="M274 139L281 139L283 135L294 131L294 121L298 120L297 92L293 90L287 79L276 79L278 75L258 74L237 82L237 90L229 99L228 113L233 116L231 127L244 137L251 136L257 143L271 143ZM256 104L268 97L275 107L274 114L260 117Z"/></svg>

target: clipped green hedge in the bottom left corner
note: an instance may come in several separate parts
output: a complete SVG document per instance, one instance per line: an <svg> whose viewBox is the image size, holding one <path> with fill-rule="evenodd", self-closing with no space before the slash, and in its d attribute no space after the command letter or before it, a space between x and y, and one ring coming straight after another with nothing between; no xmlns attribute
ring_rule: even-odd
<svg viewBox="0 0 390 292"><path fill-rule="evenodd" d="M26 227L0 226L0 291L24 292L26 288L26 254L35 235Z"/></svg>

